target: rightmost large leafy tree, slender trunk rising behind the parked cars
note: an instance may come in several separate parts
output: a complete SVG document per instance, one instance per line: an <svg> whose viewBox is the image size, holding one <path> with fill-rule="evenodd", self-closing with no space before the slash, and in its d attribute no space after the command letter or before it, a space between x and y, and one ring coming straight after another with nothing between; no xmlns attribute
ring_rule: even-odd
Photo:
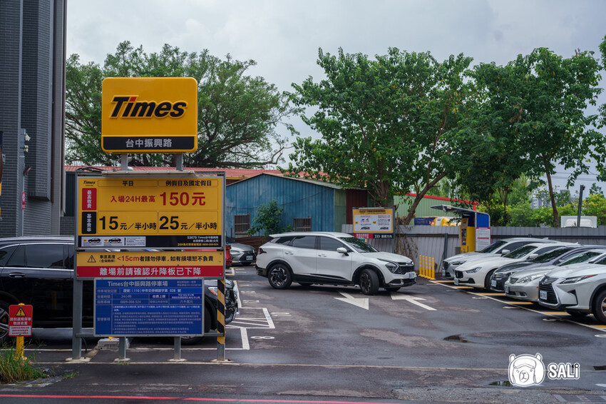
<svg viewBox="0 0 606 404"><path fill-rule="evenodd" d="M605 172L604 139L595 130L597 115L585 113L602 91L597 87L600 66L592 55L577 51L564 59L548 49L535 49L510 63L525 74L498 87L511 100L512 140L518 146L515 150L523 152L526 173L533 178L547 177L554 227L560 226L552 182L556 165L572 171L569 186L589 171L588 161L594 161L600 173Z"/></svg>

